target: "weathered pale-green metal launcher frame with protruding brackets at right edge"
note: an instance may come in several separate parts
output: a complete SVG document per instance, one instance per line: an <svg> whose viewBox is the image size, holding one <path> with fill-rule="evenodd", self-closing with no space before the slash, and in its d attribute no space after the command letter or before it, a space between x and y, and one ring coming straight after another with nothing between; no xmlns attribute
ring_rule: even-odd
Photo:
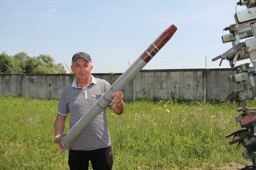
<svg viewBox="0 0 256 170"><path fill-rule="evenodd" d="M215 57L212 61L221 59L219 66L224 59L229 61L231 70L234 70L234 75L229 76L230 82L238 84L237 91L233 91L221 102L230 101L230 106L233 102L237 107L241 107L237 111L241 111L240 115L235 116L236 122L240 123L242 130L233 132L226 137L233 136L229 144L237 143L243 145L246 151L243 151L244 159L251 159L252 165L241 169L255 169L256 170L256 108L248 108L246 100L256 100L256 0L240 0L237 5L246 5L247 9L236 12L234 19L236 24L229 25L224 28L229 30L229 34L222 35L222 43L232 43L232 48L225 53ZM244 42L241 39L247 38ZM250 59L250 63L244 63L235 66L236 61ZM238 138L236 138L238 137ZM235 139L236 138L236 139Z"/></svg>

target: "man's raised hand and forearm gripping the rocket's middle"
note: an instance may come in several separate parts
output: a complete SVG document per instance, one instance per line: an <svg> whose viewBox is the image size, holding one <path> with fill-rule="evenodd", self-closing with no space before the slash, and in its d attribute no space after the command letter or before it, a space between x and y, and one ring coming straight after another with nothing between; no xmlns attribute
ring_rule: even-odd
<svg viewBox="0 0 256 170"><path fill-rule="evenodd" d="M122 114L124 111L124 101L123 101L123 93L121 91L116 91L112 94L115 100L112 100L115 104L111 105L112 110L116 114Z"/></svg>

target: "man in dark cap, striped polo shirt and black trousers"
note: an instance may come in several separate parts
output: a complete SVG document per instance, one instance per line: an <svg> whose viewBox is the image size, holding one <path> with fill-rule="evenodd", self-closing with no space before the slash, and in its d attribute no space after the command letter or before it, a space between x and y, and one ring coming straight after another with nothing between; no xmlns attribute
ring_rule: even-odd
<svg viewBox="0 0 256 170"><path fill-rule="evenodd" d="M107 81L91 75L92 68L89 54L80 52L73 55L71 70L76 79L61 92L54 127L55 138L63 134L68 113L70 113L69 128L72 128L110 87ZM109 106L116 114L122 114L123 93L116 91L112 96L115 99L109 103ZM61 143L58 143L58 146L63 149ZM94 170L112 169L113 155L106 108L81 132L74 146L69 149L70 169L88 169L89 160Z"/></svg>

